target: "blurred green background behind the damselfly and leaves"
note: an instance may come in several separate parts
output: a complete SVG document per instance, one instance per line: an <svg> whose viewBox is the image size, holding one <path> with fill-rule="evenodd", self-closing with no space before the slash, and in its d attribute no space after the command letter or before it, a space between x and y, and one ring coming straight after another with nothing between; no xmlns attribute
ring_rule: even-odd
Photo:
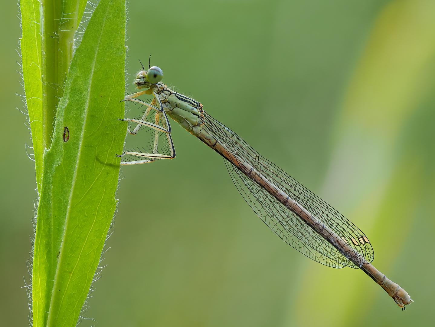
<svg viewBox="0 0 435 327"><path fill-rule="evenodd" d="M177 158L122 168L106 266L80 326L425 326L435 291L435 2L129 1L139 61L361 228L402 312L361 270L276 236L220 158L173 123ZM16 1L1 33L0 325L27 326L33 202ZM18 109L16 109L18 108ZM138 114L137 107L127 115ZM136 110L136 111L135 111ZM140 138L140 134L137 135ZM144 140L145 141L145 140Z"/></svg>

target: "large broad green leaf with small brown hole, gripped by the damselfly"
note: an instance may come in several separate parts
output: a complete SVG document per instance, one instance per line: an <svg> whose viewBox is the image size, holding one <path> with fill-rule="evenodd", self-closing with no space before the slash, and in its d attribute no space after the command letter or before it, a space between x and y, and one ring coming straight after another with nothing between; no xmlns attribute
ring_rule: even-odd
<svg viewBox="0 0 435 327"><path fill-rule="evenodd" d="M43 157L33 326L75 326L114 215L124 116L125 3L101 0L67 78ZM67 139L66 128L69 131Z"/></svg>

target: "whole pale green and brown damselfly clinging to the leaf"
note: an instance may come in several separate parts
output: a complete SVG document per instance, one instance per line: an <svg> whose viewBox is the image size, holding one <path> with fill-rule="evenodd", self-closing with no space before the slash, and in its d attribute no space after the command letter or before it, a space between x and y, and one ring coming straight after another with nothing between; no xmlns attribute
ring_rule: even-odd
<svg viewBox="0 0 435 327"><path fill-rule="evenodd" d="M201 103L167 88L162 79L163 72L159 67L140 71L134 84L138 89L146 90L124 99L147 106L141 119L121 119L137 123L134 130L128 131L136 134L142 126L150 128L154 131L154 142L148 153L124 152L122 156L130 155L139 160L124 160L121 165L175 157L169 116L224 157L228 172L241 195L281 239L326 266L349 266L363 270L402 310L413 302L402 287L371 265L373 248L357 226L208 115ZM136 99L142 94L154 95L152 102L148 104ZM154 118L150 116L151 111L155 111ZM166 147L161 146L162 137L167 142Z"/></svg>

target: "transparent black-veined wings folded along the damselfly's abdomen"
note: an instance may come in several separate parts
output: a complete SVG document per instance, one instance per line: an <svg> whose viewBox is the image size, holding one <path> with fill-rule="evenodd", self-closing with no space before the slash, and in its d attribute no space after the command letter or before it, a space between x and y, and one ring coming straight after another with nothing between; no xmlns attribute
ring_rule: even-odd
<svg viewBox="0 0 435 327"><path fill-rule="evenodd" d="M358 227L341 213L328 205L314 193L306 189L272 162L261 157L237 134L204 112L204 128L213 135L228 151L261 172L274 185L286 192L291 198L305 207L312 215L324 222L329 228L361 254L368 263L373 261L371 244ZM237 189L255 213L289 245L309 258L326 266L359 268L343 255L335 246L324 239L303 219L279 202L258 183L244 175L231 162L225 160L228 172Z"/></svg>

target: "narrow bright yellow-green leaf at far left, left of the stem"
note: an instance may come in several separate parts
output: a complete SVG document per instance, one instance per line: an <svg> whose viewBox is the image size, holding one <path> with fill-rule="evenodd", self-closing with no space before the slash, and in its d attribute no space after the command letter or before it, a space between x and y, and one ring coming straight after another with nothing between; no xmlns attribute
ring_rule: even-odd
<svg viewBox="0 0 435 327"><path fill-rule="evenodd" d="M27 111L32 130L33 154L35 155L36 181L40 192L42 158L45 149L43 136L41 34L39 1L21 0L22 37L20 38L23 64L23 81L26 90Z"/></svg>

